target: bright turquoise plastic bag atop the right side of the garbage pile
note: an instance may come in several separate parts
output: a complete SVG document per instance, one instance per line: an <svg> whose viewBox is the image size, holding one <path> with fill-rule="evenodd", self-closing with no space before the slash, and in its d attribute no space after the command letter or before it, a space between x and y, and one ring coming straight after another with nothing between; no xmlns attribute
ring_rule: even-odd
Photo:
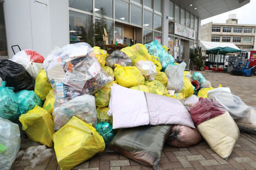
<svg viewBox="0 0 256 170"><path fill-rule="evenodd" d="M150 55L159 57L162 65L162 70L166 69L168 65L174 65L174 57L172 57L171 54L168 54L168 52L164 50L162 44L159 44L157 40L145 44L145 46Z"/></svg>

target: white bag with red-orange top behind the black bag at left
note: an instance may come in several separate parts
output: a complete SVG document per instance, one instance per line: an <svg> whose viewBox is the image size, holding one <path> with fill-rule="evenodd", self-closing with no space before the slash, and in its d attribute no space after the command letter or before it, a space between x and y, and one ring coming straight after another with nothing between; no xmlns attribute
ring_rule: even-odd
<svg viewBox="0 0 256 170"><path fill-rule="evenodd" d="M30 54L26 53L26 51L30 52ZM33 54L36 55L35 60L33 59ZM11 60L21 64L34 80L36 79L36 75L38 75L39 71L43 69L43 56L33 50L22 50L16 53Z"/></svg>

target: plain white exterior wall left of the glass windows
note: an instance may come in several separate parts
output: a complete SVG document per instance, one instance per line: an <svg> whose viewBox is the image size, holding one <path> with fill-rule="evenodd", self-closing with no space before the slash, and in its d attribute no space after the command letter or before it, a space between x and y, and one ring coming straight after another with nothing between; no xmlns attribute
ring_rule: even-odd
<svg viewBox="0 0 256 170"><path fill-rule="evenodd" d="M9 58L12 45L47 57L55 46L69 44L68 0L7 0L4 2ZM45 3L45 4L43 4ZM17 49L15 52L18 52Z"/></svg>

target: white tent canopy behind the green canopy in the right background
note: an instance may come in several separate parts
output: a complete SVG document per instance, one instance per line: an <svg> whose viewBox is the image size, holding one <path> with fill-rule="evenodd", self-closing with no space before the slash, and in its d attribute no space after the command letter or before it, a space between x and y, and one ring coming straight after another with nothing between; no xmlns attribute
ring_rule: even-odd
<svg viewBox="0 0 256 170"><path fill-rule="evenodd" d="M208 49L213 49L213 48L217 48L217 47L231 47L234 49L238 49L240 50L240 48L238 48L236 45L234 45L231 42L209 42L209 41L200 41L200 47L202 48L202 50L208 50Z"/></svg>

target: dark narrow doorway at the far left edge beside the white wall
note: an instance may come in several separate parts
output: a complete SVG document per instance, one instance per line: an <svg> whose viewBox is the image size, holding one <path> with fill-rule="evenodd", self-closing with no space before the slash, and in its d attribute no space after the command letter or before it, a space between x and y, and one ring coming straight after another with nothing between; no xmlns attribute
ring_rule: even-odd
<svg viewBox="0 0 256 170"><path fill-rule="evenodd" d="M0 1L0 58L8 59L7 40L5 30L5 15L3 14L3 2Z"/></svg>

